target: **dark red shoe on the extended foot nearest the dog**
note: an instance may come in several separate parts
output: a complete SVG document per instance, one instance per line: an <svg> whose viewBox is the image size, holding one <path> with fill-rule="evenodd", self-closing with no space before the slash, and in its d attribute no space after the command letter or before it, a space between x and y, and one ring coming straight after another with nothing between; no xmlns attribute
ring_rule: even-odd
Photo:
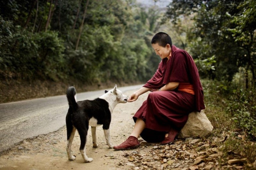
<svg viewBox="0 0 256 170"><path fill-rule="evenodd" d="M126 150L126 149L133 149L140 146L140 142L138 141L137 137L129 136L126 141L121 143L120 145L114 146L114 150Z"/></svg>

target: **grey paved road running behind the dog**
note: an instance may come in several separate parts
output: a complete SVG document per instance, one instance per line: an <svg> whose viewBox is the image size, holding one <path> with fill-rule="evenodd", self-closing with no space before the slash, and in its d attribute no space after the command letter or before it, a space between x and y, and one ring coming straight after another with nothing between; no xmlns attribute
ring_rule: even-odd
<svg viewBox="0 0 256 170"><path fill-rule="evenodd" d="M117 87L125 92L142 85ZM109 90L109 89L107 89ZM105 90L77 94L77 101L92 100ZM65 95L0 104L0 152L26 138L47 134L63 127L68 102Z"/></svg>

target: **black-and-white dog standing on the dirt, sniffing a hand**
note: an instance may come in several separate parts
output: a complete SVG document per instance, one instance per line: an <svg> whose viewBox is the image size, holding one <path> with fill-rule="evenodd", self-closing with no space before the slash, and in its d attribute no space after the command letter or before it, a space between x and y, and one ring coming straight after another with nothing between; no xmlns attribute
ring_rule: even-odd
<svg viewBox="0 0 256 170"><path fill-rule="evenodd" d="M76 133L80 135L80 152L84 162L92 162L92 158L88 158L85 152L85 144L88 128L92 130L92 146L98 147L96 141L96 126L103 125L103 131L109 148L113 148L110 141L109 125L111 122L111 113L118 103L126 103L128 96L117 89L115 85L112 90L105 90L105 94L94 100L83 100L76 102L76 89L71 86L67 89L68 113L66 116L67 125L67 154L68 160L75 160L76 157L71 155L71 145Z"/></svg>

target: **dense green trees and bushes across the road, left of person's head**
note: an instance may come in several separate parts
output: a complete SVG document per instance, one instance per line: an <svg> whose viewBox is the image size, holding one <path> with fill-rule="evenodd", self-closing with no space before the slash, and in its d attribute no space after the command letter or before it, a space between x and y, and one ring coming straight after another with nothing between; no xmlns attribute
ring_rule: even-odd
<svg viewBox="0 0 256 170"><path fill-rule="evenodd" d="M160 60L148 36L157 10L147 13L135 1L90 1L75 50L87 1L56 2L50 13L49 2L1 1L2 80L130 83L147 81L155 72Z"/></svg>

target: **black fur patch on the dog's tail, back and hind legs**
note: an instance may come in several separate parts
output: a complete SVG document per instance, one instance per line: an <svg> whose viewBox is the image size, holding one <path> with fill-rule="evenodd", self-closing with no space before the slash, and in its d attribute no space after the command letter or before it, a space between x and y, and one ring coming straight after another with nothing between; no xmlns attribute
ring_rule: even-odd
<svg viewBox="0 0 256 170"><path fill-rule="evenodd" d="M66 116L67 140L69 140L74 126L80 135L80 150L83 150L89 129L89 120L94 117L98 120L97 124L103 125L103 129L109 129L111 113L108 109L108 102L106 100L96 98L94 100L76 102L74 97L75 94L76 89L74 87L69 87L67 90L69 109Z"/></svg>

